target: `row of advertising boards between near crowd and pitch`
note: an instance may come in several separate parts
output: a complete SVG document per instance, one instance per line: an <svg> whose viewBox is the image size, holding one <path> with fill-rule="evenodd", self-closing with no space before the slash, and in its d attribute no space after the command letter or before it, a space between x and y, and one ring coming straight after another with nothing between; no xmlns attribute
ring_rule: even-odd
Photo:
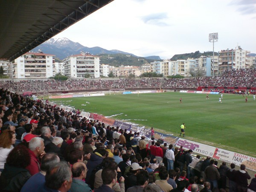
<svg viewBox="0 0 256 192"><path fill-rule="evenodd" d="M49 102L49 105L56 106L58 108L62 108L64 111L73 111L73 108L66 107L64 105L57 105L54 102ZM133 125L127 122L121 122L114 119L109 119L105 116L96 114L96 113L89 113L82 111L80 113L80 116L86 117L87 119L95 119L99 120L99 122L103 122L107 125L111 126L119 126L119 128L127 129L128 131L134 131L134 132L140 132L142 136L150 138L151 136L151 129L145 128L137 125ZM195 153L210 156L212 158L215 158L217 160L221 160L227 163L234 163L237 166L240 166L241 164L244 164L247 169L256 171L256 158L250 157L244 154L240 154L238 152L233 151L227 151L222 148L216 148L209 145L204 145L201 143L196 143L190 140L185 140L179 137L174 137L170 134L163 134L158 131L155 131L154 134L155 140L161 139L166 143L172 143L174 146L180 147L183 146L184 149L189 150L192 149Z"/></svg>

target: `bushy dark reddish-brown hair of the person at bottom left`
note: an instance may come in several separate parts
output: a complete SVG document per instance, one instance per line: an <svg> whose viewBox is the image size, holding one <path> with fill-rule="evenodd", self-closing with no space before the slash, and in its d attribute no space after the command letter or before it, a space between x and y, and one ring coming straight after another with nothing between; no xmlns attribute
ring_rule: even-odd
<svg viewBox="0 0 256 192"><path fill-rule="evenodd" d="M9 166L26 168L30 164L30 154L24 145L17 145L9 153L6 159Z"/></svg>

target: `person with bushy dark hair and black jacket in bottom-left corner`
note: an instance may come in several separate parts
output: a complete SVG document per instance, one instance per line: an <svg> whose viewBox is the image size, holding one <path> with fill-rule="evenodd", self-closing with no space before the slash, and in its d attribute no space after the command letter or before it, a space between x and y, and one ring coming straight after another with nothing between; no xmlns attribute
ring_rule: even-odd
<svg viewBox="0 0 256 192"><path fill-rule="evenodd" d="M23 145L18 145L9 153L3 172L0 176L0 191L16 192L31 177L25 169L30 163L29 151Z"/></svg>

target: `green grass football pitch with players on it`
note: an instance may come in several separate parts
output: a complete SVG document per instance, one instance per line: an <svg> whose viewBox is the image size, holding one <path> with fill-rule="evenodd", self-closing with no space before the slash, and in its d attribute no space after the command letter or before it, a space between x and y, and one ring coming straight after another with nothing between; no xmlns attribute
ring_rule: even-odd
<svg viewBox="0 0 256 192"><path fill-rule="evenodd" d="M255 157L256 101L253 96L195 93L141 93L51 99L52 102L125 122L154 127L179 136L185 123L185 138ZM182 97L182 104L180 104Z"/></svg>

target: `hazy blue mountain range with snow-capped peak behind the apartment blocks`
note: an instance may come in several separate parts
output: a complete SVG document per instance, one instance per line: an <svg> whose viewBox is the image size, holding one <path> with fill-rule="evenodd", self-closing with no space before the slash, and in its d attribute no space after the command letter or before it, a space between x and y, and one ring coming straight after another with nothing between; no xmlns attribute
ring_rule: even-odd
<svg viewBox="0 0 256 192"><path fill-rule="evenodd" d="M70 41L68 38L50 38L49 40L45 41L43 44L39 45L32 49L32 52L38 52L41 50L44 53L55 55L56 58L63 60L70 55L77 55L81 51L89 52L92 55L102 55L102 54L125 54L125 55L132 55L134 57L140 58L132 53L123 52L120 50L107 50L101 47L85 47L77 42ZM148 56L144 57L146 59L152 60L161 60L159 56Z"/></svg>

